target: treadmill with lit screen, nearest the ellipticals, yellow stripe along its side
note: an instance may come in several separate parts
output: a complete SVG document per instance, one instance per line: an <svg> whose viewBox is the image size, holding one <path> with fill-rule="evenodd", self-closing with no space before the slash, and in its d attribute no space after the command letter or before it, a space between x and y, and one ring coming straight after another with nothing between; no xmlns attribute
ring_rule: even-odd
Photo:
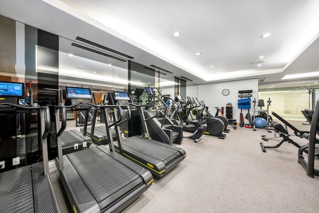
<svg viewBox="0 0 319 213"><path fill-rule="evenodd" d="M121 102L127 106L130 105L132 108L135 107L135 110L138 110L140 113L141 124L144 130L144 137L133 136L124 140L122 140L122 137L118 133L118 141L114 142L117 152L149 170L154 176L159 178L166 175L185 159L186 152L183 149L150 139L146 121L152 122L153 119L156 119L156 115L150 119L145 119L142 107L154 105L135 105L132 103L127 92L109 92L108 96L109 103L111 104L112 102L113 104ZM118 114L120 115L121 113L113 113L114 120L118 119ZM116 124L116 130L118 129L117 127L118 124Z"/></svg>

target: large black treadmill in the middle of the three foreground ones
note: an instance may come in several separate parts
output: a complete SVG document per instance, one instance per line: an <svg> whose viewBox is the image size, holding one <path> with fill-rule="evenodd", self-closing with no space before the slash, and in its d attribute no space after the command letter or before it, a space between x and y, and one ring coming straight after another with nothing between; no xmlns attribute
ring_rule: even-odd
<svg viewBox="0 0 319 213"><path fill-rule="evenodd" d="M76 213L120 212L141 196L153 182L149 171L113 152L112 137L109 147L101 145L62 155L61 134L66 126L66 111L101 110L110 135L111 126L126 120L120 117L110 124L106 116L108 109L122 112L119 106L100 106L88 102L78 102L66 107L55 106L58 146L55 163L72 209ZM61 125L59 113L62 118ZM93 121L95 120L96 116L93 116ZM86 126L84 133L85 131Z"/></svg>

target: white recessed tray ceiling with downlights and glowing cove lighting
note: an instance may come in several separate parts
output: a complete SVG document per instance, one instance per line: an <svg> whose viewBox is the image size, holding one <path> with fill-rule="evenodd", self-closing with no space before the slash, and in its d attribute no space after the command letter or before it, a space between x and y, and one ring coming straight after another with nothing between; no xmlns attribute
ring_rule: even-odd
<svg viewBox="0 0 319 213"><path fill-rule="evenodd" d="M281 80L319 71L318 11L319 0L0 2L1 15L71 40L83 37L194 83L265 77L265 88L319 80ZM181 35L173 36L176 31ZM260 55L266 61L257 67Z"/></svg>

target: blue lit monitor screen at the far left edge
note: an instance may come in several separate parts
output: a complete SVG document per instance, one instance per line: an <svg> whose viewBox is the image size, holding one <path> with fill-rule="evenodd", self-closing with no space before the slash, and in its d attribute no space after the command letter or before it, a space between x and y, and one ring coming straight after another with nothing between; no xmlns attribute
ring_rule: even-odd
<svg viewBox="0 0 319 213"><path fill-rule="evenodd" d="M24 83L0 81L0 96L24 98Z"/></svg>

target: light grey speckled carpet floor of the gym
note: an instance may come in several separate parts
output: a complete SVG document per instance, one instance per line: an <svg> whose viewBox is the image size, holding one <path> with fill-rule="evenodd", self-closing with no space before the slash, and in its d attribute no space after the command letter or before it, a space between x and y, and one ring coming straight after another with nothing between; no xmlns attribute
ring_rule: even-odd
<svg viewBox="0 0 319 213"><path fill-rule="evenodd" d="M302 122L297 128L309 129ZM293 133L292 130L289 130ZM189 134L189 133L185 133ZM318 213L319 178L309 178L298 160L298 148L284 143L263 153L264 129L240 128L224 140L203 136L198 143L184 139L186 158L160 180L155 180L124 213ZM291 136L300 145L306 139ZM280 138L264 142L276 145ZM316 159L316 165L319 160ZM54 167L50 177L62 212L71 212Z"/></svg>

